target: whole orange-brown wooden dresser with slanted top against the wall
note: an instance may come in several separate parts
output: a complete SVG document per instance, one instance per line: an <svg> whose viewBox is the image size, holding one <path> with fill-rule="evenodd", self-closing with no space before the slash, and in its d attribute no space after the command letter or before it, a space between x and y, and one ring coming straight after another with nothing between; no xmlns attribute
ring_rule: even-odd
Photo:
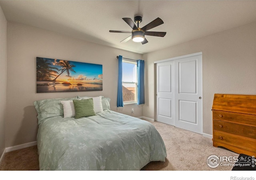
<svg viewBox="0 0 256 180"><path fill-rule="evenodd" d="M256 156L256 95L214 94L213 146Z"/></svg>

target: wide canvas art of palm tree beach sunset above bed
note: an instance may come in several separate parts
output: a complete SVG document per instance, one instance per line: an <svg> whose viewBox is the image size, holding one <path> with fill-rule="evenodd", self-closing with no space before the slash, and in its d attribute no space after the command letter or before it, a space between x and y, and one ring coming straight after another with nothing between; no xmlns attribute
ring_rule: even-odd
<svg viewBox="0 0 256 180"><path fill-rule="evenodd" d="M102 90L102 65L36 58L36 92Z"/></svg>

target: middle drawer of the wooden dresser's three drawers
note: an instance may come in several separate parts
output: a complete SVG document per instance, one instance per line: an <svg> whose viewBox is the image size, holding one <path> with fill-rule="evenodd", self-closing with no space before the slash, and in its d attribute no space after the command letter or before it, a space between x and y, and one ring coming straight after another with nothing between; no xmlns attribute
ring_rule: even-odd
<svg viewBox="0 0 256 180"><path fill-rule="evenodd" d="M248 126L245 124L237 124L222 120L213 120L214 130L228 132L239 136L256 139L256 126Z"/></svg>

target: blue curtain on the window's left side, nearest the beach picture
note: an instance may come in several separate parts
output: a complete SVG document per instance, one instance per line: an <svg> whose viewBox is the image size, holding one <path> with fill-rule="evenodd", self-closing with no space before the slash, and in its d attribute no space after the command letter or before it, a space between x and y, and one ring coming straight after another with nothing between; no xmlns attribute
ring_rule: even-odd
<svg viewBox="0 0 256 180"><path fill-rule="evenodd" d="M117 89L117 107L124 107L123 85L122 85L122 56L118 56L118 89Z"/></svg>

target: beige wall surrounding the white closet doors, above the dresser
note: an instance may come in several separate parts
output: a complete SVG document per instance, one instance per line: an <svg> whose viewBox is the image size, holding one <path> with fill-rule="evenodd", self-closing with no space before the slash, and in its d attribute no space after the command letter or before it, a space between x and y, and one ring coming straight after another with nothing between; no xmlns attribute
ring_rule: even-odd
<svg viewBox="0 0 256 180"><path fill-rule="evenodd" d="M215 93L256 94L256 22L144 54L146 104L143 116L154 118L154 61L202 52L203 133L212 134Z"/></svg>

